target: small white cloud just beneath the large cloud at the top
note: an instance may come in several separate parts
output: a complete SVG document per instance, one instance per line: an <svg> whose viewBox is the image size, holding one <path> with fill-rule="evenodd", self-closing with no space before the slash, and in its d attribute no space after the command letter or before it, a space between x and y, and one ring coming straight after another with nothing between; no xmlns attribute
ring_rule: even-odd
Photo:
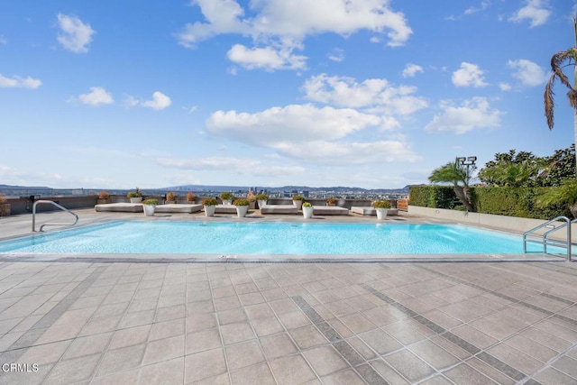
<svg viewBox="0 0 577 385"><path fill-rule="evenodd" d="M228 59L245 69L305 69L307 57L294 55L292 49L275 50L272 47L247 48L234 44L227 54Z"/></svg>

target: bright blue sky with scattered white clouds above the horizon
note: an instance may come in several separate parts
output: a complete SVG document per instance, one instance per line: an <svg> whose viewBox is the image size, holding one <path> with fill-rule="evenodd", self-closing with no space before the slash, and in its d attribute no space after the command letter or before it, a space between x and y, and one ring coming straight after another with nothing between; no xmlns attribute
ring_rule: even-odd
<svg viewBox="0 0 577 385"><path fill-rule="evenodd" d="M570 0L0 4L0 184L401 188L573 142Z"/></svg>

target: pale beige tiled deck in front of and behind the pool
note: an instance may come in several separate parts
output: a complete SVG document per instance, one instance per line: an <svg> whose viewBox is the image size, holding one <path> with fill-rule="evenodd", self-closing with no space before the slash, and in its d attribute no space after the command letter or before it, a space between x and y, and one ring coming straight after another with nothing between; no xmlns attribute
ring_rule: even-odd
<svg viewBox="0 0 577 385"><path fill-rule="evenodd" d="M0 383L577 382L572 262L230 262L0 261Z"/></svg>

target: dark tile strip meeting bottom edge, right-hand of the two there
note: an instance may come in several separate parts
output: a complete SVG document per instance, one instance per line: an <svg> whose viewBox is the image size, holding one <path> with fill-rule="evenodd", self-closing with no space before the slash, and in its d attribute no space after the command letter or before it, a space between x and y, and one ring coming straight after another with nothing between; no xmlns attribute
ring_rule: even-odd
<svg viewBox="0 0 577 385"><path fill-rule="evenodd" d="M460 336L454 335L452 332L444 329L443 326L435 324L433 321L427 319L425 316L417 315L417 313L415 313L413 310L409 309L408 307L405 307L402 304L399 304L393 298L389 298L388 296L380 293L376 289L371 288L371 286L369 286L367 284L362 284L361 286L363 289L367 290L369 293L371 293L375 297L380 298L381 300L392 305L393 307L397 307L398 310L404 312L408 316L415 314L416 316L411 316L412 319L415 319L421 325L425 325L430 330L437 333L437 335L440 335L444 339L446 339L446 340L450 341L451 343L456 344L457 346L461 347L464 351L466 351L467 353L470 353L472 356L478 357L481 361L489 364L491 367L493 367L494 369L507 375L511 379L517 380L517 381L527 379L528 376L525 373L523 373L522 371L518 371L517 369L508 365L508 363L500 361L498 358L494 357L490 353L487 353L483 349L475 346L474 344L471 344L471 343L465 341ZM396 305L396 304L398 304L398 305ZM407 310L405 310L405 309L407 309ZM441 333L439 333L439 332L441 332Z"/></svg>

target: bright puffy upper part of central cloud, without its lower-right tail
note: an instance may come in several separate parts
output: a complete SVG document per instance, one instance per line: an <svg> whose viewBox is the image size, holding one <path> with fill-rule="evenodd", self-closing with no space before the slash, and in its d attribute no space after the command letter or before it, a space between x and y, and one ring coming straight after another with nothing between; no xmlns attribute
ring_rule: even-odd
<svg viewBox="0 0 577 385"><path fill-rule="evenodd" d="M216 111L207 119L206 129L216 136L275 147L288 142L340 139L381 123L377 115L361 114L350 108L287 105L255 114Z"/></svg>

